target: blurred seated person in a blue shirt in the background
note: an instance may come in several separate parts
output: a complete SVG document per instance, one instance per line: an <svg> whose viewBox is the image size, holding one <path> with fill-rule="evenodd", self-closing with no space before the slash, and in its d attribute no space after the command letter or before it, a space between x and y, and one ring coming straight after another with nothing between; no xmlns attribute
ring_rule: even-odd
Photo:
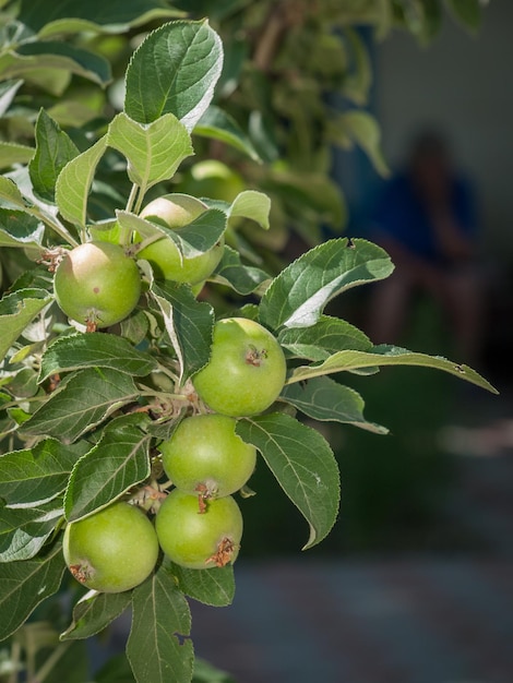
<svg viewBox="0 0 513 683"><path fill-rule="evenodd" d="M406 170L386 183L373 212L371 239L395 264L371 297L368 327L375 344L399 342L413 296L425 291L449 319L458 360L478 364L482 307L476 238L469 185L453 168L443 136L422 132Z"/></svg>

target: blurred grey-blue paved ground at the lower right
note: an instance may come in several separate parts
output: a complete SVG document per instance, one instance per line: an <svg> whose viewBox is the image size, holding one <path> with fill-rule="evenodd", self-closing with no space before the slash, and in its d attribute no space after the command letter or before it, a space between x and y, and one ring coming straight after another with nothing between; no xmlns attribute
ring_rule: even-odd
<svg viewBox="0 0 513 683"><path fill-rule="evenodd" d="M241 560L231 607L192 606L198 654L237 683L513 683L513 454L466 436L488 446L461 459L450 514L480 554Z"/></svg>

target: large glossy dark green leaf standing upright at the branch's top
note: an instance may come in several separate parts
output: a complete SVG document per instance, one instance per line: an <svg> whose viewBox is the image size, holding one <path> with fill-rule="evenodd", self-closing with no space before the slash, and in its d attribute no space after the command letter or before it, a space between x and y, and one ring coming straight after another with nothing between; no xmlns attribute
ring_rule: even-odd
<svg viewBox="0 0 513 683"><path fill-rule="evenodd" d="M174 113L192 131L223 68L223 46L206 21L171 22L152 32L127 70L124 110L140 123Z"/></svg>

